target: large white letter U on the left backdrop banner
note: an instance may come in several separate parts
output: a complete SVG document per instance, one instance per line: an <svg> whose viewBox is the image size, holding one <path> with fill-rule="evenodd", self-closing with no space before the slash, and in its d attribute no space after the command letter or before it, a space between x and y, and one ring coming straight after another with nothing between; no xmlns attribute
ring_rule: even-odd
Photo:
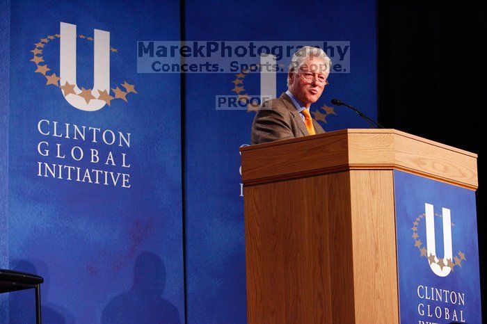
<svg viewBox="0 0 487 324"><path fill-rule="evenodd" d="M59 54L60 63L60 85L66 82L74 84L74 91L79 94L81 90L76 81L76 25L61 22L61 49ZM93 90L91 94L97 98L98 91L110 92L110 33L95 29L93 55ZM74 108L82 111L97 111L106 102L104 100L91 99L88 104L79 96L65 96L67 102Z"/></svg>

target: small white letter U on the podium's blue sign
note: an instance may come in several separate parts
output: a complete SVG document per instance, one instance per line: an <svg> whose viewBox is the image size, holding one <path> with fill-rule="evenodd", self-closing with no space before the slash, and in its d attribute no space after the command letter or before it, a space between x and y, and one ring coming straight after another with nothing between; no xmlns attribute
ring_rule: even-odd
<svg viewBox="0 0 487 324"><path fill-rule="evenodd" d="M440 258L436 254L436 242L435 242L435 213L432 204L424 204L424 209L426 211L426 250L428 257L430 254L435 256L436 262ZM450 210L447 208L442 209L442 219L443 219L443 264L447 264L447 260L452 261L453 259L453 248L452 248L452 217L450 216ZM452 271L449 266L440 267L436 263L429 265L433 273L439 275L440 277L446 277Z"/></svg>

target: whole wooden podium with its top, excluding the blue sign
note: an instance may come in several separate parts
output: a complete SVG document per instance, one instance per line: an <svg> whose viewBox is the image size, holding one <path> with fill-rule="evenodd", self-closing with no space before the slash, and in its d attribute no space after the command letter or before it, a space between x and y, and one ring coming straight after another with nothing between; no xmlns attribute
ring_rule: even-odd
<svg viewBox="0 0 487 324"><path fill-rule="evenodd" d="M477 155L394 129L241 148L248 323L399 323L394 170L474 191Z"/></svg>

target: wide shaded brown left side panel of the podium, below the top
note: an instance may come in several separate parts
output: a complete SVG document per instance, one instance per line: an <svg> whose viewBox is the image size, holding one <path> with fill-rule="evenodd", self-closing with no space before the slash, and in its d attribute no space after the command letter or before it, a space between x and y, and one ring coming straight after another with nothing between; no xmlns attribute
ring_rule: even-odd
<svg viewBox="0 0 487 324"><path fill-rule="evenodd" d="M353 323L349 183L338 172L245 188L248 323Z"/></svg>

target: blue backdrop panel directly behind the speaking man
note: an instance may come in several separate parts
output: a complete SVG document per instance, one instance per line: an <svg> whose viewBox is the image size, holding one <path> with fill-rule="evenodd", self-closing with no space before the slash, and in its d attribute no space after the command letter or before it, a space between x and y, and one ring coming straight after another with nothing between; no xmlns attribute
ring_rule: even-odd
<svg viewBox="0 0 487 324"><path fill-rule="evenodd" d="M355 113L334 108L330 99L337 97L376 118L375 1L189 1L184 29L186 40L239 42L248 44L246 48L250 42L269 47L276 42L282 46L296 42L301 46L321 42L323 46L326 42L334 63L340 63L340 45L349 55L349 70L330 74L330 86L311 106L312 114L326 131L368 128ZM248 57L237 61L265 63L259 57L253 62ZM239 147L250 144L250 127L260 96L276 97L287 90L289 59L282 58L277 64L284 73L260 73L244 66L232 73L185 75L189 323L246 323ZM228 104L228 98L241 104Z"/></svg>

